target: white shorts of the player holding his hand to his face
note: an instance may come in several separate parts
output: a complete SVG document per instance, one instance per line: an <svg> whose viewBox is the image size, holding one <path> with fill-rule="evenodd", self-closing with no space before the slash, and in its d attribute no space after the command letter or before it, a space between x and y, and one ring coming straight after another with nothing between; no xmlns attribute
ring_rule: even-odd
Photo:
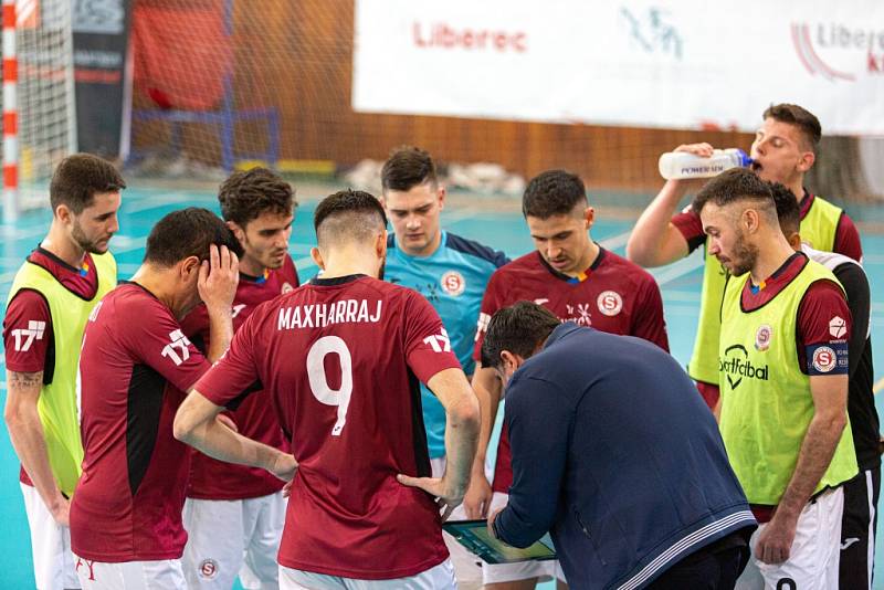
<svg viewBox="0 0 884 590"><path fill-rule="evenodd" d="M188 590L180 559L103 563L76 559L83 590Z"/></svg>

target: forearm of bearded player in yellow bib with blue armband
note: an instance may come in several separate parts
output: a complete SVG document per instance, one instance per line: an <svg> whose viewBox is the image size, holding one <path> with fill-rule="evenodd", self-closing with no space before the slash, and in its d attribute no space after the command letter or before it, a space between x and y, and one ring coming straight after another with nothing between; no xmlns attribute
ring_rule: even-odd
<svg viewBox="0 0 884 590"><path fill-rule="evenodd" d="M777 512L797 518L829 468L835 447L848 423L846 413L815 413L810 422L792 477Z"/></svg>

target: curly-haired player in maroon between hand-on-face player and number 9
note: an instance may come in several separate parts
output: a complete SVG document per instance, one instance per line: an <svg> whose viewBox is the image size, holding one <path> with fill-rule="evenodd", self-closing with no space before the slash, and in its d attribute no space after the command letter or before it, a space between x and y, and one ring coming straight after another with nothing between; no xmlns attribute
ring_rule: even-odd
<svg viewBox="0 0 884 590"><path fill-rule="evenodd" d="M292 187L265 168L231 175L221 185L218 200L243 251L232 310L236 330L256 306L298 286L287 254L296 203ZM208 307L197 306L181 329L206 351L211 343ZM244 436L287 450L267 396L250 396L229 417ZM182 558L191 589L229 589L238 572L246 589L277 586L276 551L285 521L283 485L264 470L193 453Z"/></svg>

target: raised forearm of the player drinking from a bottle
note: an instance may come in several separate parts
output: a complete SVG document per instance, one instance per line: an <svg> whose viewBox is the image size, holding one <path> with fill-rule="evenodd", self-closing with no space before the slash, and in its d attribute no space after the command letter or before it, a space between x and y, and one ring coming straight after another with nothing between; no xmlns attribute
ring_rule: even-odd
<svg viewBox="0 0 884 590"><path fill-rule="evenodd" d="M629 260L641 266L660 266L677 260L677 256L670 255L671 251L674 250L681 253L681 247L669 243L673 238L671 232L674 230L674 228L670 226L670 220L675 213L678 201L685 196L686 191L685 183L677 180L667 180L663 185L663 188L642 212L632 229L632 233L627 241L627 257ZM678 230L674 231L677 232ZM687 244L685 242L684 252L681 255L684 256L686 254Z"/></svg>

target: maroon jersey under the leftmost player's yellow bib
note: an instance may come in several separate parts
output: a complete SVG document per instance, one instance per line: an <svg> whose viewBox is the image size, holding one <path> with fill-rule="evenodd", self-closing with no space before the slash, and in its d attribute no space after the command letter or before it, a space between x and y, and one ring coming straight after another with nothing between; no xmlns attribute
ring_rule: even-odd
<svg viewBox="0 0 884 590"><path fill-rule="evenodd" d="M28 263L45 268L74 295L84 299L95 297L98 273L91 254L87 253L83 259L82 267L74 268L52 252L38 246L28 256ZM22 289L9 302L3 318L3 346L7 369L10 371L43 371L44 379L52 378L55 339L52 315L42 294L33 289ZM33 486L23 467L19 470L19 480Z"/></svg>

